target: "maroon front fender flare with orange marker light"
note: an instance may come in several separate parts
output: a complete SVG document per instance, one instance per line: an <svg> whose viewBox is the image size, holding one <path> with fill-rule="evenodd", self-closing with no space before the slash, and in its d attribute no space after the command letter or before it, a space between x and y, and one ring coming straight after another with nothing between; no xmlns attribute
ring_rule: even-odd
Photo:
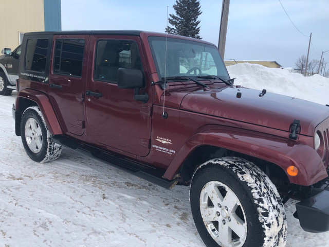
<svg viewBox="0 0 329 247"><path fill-rule="evenodd" d="M291 183L308 186L327 177L324 164L317 152L304 144L283 137L236 128L214 127L191 136L177 152L163 177L172 179L186 157L197 147L209 145L261 158L281 167L296 166L295 177L287 174Z"/></svg>

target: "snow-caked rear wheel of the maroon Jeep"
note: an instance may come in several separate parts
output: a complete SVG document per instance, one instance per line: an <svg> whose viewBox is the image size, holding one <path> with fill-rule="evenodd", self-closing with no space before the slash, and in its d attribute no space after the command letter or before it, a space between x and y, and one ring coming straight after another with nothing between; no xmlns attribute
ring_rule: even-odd
<svg viewBox="0 0 329 247"><path fill-rule="evenodd" d="M62 146L53 142L39 107L27 108L21 121L22 143L27 155L36 162L56 160Z"/></svg>

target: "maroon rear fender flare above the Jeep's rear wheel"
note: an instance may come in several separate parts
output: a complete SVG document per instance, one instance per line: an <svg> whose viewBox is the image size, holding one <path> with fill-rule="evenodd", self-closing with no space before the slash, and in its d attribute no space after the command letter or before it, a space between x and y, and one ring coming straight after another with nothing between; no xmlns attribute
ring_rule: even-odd
<svg viewBox="0 0 329 247"><path fill-rule="evenodd" d="M27 108L24 105L23 106L20 105L20 99L22 98L30 101L34 101L38 105L45 119L49 132L51 134L53 135L63 134L59 121L52 108L51 102L44 93L31 89L24 89L22 91L17 92L15 109L16 111L19 110L21 114L23 114L24 110ZM20 119L16 118L15 121L20 121Z"/></svg>

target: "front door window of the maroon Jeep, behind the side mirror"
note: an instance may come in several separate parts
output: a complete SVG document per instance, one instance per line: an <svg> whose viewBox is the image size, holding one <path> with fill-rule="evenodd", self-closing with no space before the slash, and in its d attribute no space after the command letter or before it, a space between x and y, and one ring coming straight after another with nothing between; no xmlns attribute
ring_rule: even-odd
<svg viewBox="0 0 329 247"><path fill-rule="evenodd" d="M135 41L100 40L96 45L94 79L117 83L118 68L142 70Z"/></svg>

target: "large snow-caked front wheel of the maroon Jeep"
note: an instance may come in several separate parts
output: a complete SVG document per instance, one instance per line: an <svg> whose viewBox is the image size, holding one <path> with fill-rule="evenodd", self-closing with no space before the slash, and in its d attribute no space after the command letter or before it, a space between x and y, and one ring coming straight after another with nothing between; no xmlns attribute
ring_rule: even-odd
<svg viewBox="0 0 329 247"><path fill-rule="evenodd" d="M210 246L285 246L280 195L267 175L239 157L214 158L195 171L190 202L196 228Z"/></svg>

